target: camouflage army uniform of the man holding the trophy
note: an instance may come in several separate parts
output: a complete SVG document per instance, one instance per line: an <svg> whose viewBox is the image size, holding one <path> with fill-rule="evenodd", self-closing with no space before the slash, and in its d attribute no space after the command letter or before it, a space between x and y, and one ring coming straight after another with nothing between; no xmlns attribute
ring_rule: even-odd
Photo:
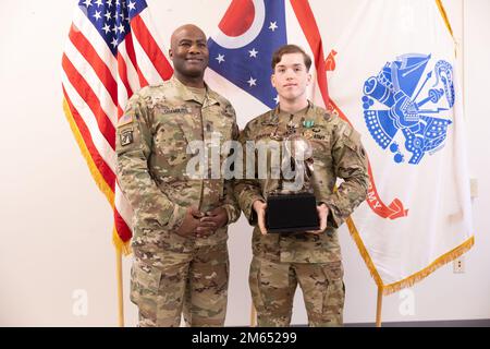
<svg viewBox="0 0 490 349"><path fill-rule="evenodd" d="M250 225L254 257L249 286L259 326L287 326L297 282L303 290L308 324L342 324L344 304L343 267L336 228L366 197L368 188L366 154L360 135L338 116L309 103L295 115L279 107L248 122L240 136L246 141L283 140L301 134L313 145L313 181L317 203L329 207L326 232L268 233L257 225L253 203L266 202L278 180L244 179L235 184L235 196ZM245 148L245 145L244 145ZM270 169L268 169L270 173ZM256 177L257 178L257 177ZM336 178L344 181L334 192Z"/></svg>

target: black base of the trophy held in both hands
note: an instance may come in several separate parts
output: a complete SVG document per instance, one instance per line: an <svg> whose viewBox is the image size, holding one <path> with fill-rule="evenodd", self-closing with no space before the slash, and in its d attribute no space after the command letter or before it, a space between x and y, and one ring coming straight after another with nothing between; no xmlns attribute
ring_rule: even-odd
<svg viewBox="0 0 490 349"><path fill-rule="evenodd" d="M268 232L302 232L320 229L313 193L273 194L267 198Z"/></svg>

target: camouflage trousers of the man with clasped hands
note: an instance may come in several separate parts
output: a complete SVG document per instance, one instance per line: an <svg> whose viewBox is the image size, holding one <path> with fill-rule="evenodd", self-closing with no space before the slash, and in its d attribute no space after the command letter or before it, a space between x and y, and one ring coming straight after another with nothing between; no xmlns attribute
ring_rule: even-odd
<svg viewBox="0 0 490 349"><path fill-rule="evenodd" d="M140 327L223 326L226 314L229 255L226 243L189 253L162 252L158 263L135 253L131 301Z"/></svg>

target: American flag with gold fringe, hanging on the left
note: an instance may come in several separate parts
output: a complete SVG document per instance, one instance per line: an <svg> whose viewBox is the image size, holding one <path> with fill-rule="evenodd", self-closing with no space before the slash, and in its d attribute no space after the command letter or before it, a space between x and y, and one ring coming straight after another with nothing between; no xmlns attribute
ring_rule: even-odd
<svg viewBox="0 0 490 349"><path fill-rule="evenodd" d="M62 58L63 106L94 179L114 210L113 241L126 251L132 209L115 178L115 125L127 99L172 75L145 0L83 0Z"/></svg>

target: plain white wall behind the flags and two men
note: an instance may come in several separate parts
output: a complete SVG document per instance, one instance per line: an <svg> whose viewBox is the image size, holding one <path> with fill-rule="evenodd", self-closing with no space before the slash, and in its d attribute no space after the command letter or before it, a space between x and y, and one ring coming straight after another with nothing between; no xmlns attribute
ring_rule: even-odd
<svg viewBox="0 0 490 349"><path fill-rule="evenodd" d="M147 2L167 46L172 29L180 24L196 23L206 33L213 33L229 4L205 0ZM61 108L61 55L76 1L1 3L0 326L115 326L111 209L93 182ZM341 33L356 0L342 2L342 8L334 0L310 3L329 46L327 41ZM470 172L479 184L479 197L474 201L476 245L466 254L465 274L453 274L448 265L411 289L413 315L400 312L407 293L385 297L387 322L490 317L490 215L485 209L490 207L490 151L485 144L490 115L483 95L490 81L490 1L469 0L464 8L462 0L444 3L456 38L464 41ZM332 11L335 23L326 23L319 15ZM230 233L226 325L247 325L249 321L249 234L243 217ZM347 286L345 322L372 322L375 282L345 228L341 229L341 243ZM131 258L123 264L125 321L134 326L137 312L127 298ZM87 315L73 313L76 290L88 297ZM293 321L306 323L298 298Z"/></svg>

